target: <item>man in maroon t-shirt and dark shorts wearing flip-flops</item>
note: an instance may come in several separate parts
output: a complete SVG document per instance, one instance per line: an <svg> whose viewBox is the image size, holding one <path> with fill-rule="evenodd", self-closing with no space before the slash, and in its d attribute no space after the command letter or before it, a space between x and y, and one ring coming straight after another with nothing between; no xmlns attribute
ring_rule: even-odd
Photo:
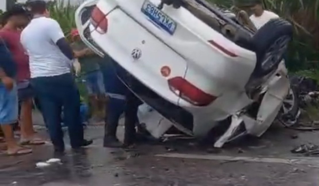
<svg viewBox="0 0 319 186"><path fill-rule="evenodd" d="M14 62L17 64L17 88L20 103L21 144L38 145L44 141L35 136L32 122L33 88L29 83L29 57L20 43L21 28L29 23L27 11L20 5L13 6L3 15L4 26L0 30L0 37L10 50Z"/></svg>

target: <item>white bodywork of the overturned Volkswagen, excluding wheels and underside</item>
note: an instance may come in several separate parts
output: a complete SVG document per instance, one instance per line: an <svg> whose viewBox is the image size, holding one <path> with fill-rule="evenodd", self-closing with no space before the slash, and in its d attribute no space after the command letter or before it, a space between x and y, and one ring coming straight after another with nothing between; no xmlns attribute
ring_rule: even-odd
<svg viewBox="0 0 319 186"><path fill-rule="evenodd" d="M148 1L156 6L160 3L160 0ZM245 85L255 69L255 52L236 45L183 7L164 6L161 10L176 23L174 33L169 33L141 11L144 3L145 0L86 1L76 13L82 39L100 56L105 53L111 56L152 92L190 113L193 119L191 127L167 118L178 129L193 136L205 136L220 121L231 116L232 122L215 143L216 147L233 138L241 123L245 125L245 133L261 136L275 120L289 91L284 63L261 85L265 95L257 117L252 118L243 110L254 102L247 96ZM81 12L94 4L107 18L106 32L93 26L90 20L81 23ZM90 29L95 45L92 41L88 42L85 28ZM176 84L187 81L191 85L172 87L169 84L172 79ZM181 90L187 89L183 86L215 100L206 104L207 100L196 97L199 93L194 93L191 98L187 97L189 95L181 96ZM143 97L140 98L148 104ZM203 104L197 103L198 100ZM158 124L153 123L151 125ZM167 123L170 122L166 122L167 127L162 128L157 137L169 128Z"/></svg>

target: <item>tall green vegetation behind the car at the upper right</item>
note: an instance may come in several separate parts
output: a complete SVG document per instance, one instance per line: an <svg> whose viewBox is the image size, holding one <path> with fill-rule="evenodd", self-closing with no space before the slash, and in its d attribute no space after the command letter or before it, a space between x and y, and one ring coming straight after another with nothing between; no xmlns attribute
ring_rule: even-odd
<svg viewBox="0 0 319 186"><path fill-rule="evenodd" d="M230 8L234 2L240 8L251 0L209 0ZM287 67L291 72L319 77L319 0L263 0L266 9L293 23L295 32L288 50Z"/></svg>

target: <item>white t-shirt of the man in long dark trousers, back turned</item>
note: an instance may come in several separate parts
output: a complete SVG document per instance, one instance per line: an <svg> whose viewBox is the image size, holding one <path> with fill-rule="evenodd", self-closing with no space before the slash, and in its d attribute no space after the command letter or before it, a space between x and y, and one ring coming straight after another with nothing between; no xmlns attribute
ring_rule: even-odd
<svg viewBox="0 0 319 186"><path fill-rule="evenodd" d="M21 43L29 55L31 78L70 73L71 61L56 45L63 31L55 20L38 17L21 33Z"/></svg>

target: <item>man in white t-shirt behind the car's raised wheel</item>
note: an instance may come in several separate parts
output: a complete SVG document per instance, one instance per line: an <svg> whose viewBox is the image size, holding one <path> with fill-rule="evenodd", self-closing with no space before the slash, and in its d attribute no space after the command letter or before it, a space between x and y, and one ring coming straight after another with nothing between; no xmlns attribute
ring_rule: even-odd
<svg viewBox="0 0 319 186"><path fill-rule="evenodd" d="M259 30L269 20L279 18L277 14L263 9L262 0L253 0L251 10L253 15L250 16L250 20L254 23L257 30Z"/></svg>

